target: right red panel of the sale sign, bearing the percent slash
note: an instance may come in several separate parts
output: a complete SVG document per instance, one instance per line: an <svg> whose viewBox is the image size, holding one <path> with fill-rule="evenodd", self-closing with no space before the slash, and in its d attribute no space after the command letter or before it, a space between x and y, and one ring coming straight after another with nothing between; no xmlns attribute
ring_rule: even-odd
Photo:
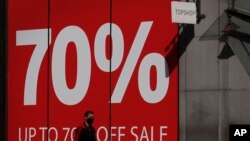
<svg viewBox="0 0 250 141"><path fill-rule="evenodd" d="M171 42L178 28L171 23L170 2L112 3L112 22L122 29L124 43L113 44L124 51L111 75L112 140L177 141L178 58Z"/></svg>

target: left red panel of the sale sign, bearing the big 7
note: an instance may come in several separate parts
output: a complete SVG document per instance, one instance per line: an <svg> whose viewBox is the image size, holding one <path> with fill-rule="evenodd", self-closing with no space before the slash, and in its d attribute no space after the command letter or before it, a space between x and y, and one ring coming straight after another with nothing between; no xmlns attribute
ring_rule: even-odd
<svg viewBox="0 0 250 141"><path fill-rule="evenodd" d="M48 1L8 1L9 141L46 139L48 34Z"/></svg>

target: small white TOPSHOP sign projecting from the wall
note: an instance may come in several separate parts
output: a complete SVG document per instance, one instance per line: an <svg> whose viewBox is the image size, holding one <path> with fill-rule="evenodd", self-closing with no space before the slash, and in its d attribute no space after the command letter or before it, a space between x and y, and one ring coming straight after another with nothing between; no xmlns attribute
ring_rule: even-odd
<svg viewBox="0 0 250 141"><path fill-rule="evenodd" d="M172 1L171 5L173 23L197 23L196 3Z"/></svg>

